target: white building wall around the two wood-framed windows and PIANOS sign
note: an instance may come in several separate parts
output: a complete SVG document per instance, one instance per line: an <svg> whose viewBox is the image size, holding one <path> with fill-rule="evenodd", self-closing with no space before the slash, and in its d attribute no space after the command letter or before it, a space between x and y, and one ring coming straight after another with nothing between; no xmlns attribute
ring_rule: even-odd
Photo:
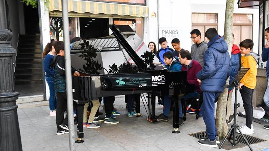
<svg viewBox="0 0 269 151"><path fill-rule="evenodd" d="M157 13L157 0L147 1L149 6L149 18L144 19L144 41L158 43L158 20L150 17L152 12ZM218 13L218 33L224 34L224 21L226 0L159 0L159 27L179 27L182 28L181 47L190 50L192 41L191 14L192 13ZM253 51L258 53L259 44L259 9L238 9L237 1L234 2L234 13L253 14ZM171 47L171 41L168 41Z"/></svg>

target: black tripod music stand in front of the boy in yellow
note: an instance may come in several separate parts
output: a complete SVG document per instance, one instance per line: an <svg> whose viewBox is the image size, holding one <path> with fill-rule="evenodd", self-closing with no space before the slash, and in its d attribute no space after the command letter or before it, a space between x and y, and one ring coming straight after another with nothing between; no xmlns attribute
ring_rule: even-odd
<svg viewBox="0 0 269 151"><path fill-rule="evenodd" d="M244 75L248 72L249 68L241 68L241 70L238 72L238 74L236 75L236 77L234 78L234 80L229 84L229 85L225 85L224 88L230 88L230 87L235 87L235 99L234 99L234 124L232 125L231 129L229 130L228 134L226 135L226 137L224 138L223 142L221 143L221 145L219 146L219 149L221 149L221 147L223 146L224 142L226 141L226 139L229 136L228 141L233 145L237 145L239 142L241 142L242 140L245 140L245 142L247 143L247 145L249 146L249 149L252 151L252 148L249 145L249 141L245 138L245 136L242 134L240 128L238 128L238 124L236 124L236 110L237 107L240 106L240 104L237 104L237 91L238 91L238 86L239 86L239 81L241 81L241 79L244 77ZM242 136L243 139L238 140L237 142L235 142L235 136L236 136L236 129L238 129L238 131L240 132L240 135ZM231 137L233 136L233 142L231 142Z"/></svg>

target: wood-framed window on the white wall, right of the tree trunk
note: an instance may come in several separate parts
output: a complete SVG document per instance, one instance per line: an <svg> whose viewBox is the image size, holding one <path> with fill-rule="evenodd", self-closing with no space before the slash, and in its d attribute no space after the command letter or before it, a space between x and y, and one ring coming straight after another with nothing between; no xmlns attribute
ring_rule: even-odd
<svg viewBox="0 0 269 151"><path fill-rule="evenodd" d="M245 39L252 39L253 15L234 14L233 19L234 44L238 45Z"/></svg>

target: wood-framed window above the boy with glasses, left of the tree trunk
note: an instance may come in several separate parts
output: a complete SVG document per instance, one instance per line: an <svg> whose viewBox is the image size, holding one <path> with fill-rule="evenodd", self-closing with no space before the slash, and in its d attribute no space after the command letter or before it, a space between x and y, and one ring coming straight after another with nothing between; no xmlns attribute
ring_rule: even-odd
<svg viewBox="0 0 269 151"><path fill-rule="evenodd" d="M198 29L201 32L201 39L205 39L205 31L208 28L218 30L218 14L216 13L192 13L192 30Z"/></svg>

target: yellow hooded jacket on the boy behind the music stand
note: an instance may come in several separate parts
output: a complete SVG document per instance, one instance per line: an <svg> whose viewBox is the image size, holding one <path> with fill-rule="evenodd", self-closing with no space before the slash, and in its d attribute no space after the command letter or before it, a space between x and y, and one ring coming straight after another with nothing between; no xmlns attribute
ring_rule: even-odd
<svg viewBox="0 0 269 151"><path fill-rule="evenodd" d="M245 74L245 76L242 78L240 82L250 89L254 89L256 87L258 59L259 56L254 52L246 54L241 58L241 67L249 68L249 71Z"/></svg>

